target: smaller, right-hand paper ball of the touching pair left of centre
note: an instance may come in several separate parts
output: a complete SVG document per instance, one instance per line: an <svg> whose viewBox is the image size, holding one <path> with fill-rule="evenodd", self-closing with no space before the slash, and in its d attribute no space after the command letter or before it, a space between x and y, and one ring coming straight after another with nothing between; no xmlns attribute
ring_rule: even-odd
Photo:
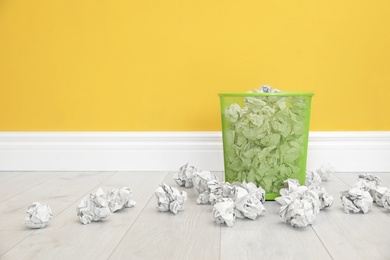
<svg viewBox="0 0 390 260"><path fill-rule="evenodd" d="M110 190L107 193L107 200L111 212L115 212L123 208L131 208L136 204L133 200L133 194L131 193L129 187Z"/></svg>

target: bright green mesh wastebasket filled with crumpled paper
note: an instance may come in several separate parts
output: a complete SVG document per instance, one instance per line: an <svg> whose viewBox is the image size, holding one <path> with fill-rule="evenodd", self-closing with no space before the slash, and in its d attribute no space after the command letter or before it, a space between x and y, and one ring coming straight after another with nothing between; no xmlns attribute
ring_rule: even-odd
<svg viewBox="0 0 390 260"><path fill-rule="evenodd" d="M279 196L287 178L306 176L313 93L219 94L225 181L254 182L266 199Z"/></svg>

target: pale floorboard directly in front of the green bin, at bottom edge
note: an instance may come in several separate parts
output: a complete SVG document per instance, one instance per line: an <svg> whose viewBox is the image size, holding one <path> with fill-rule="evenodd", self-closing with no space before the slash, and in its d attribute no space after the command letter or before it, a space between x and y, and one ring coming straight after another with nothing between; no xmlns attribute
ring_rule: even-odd
<svg viewBox="0 0 390 260"><path fill-rule="evenodd" d="M265 203L266 216L222 226L221 259L331 259L311 227L296 229L279 218L280 206Z"/></svg>

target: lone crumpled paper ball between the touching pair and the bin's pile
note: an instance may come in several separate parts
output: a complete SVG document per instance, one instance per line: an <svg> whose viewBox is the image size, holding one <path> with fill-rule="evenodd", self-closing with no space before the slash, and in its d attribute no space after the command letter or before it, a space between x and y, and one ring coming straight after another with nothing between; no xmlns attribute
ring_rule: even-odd
<svg viewBox="0 0 390 260"><path fill-rule="evenodd" d="M187 201L187 193L179 191L165 183L154 192L157 197L157 209L159 211L171 211L177 214L184 209L184 203Z"/></svg>

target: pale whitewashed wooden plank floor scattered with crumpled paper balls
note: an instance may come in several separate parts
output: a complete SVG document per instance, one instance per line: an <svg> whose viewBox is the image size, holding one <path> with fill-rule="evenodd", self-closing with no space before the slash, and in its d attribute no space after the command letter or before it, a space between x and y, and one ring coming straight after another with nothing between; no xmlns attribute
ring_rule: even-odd
<svg viewBox="0 0 390 260"><path fill-rule="evenodd" d="M219 176L222 174L219 173ZM358 174L337 173L323 185L335 197L312 226L292 228L267 201L267 215L236 219L232 228L216 224L210 205L197 205L193 189L185 210L156 210L154 191L166 172L0 172L0 259L390 259L390 212L374 204L368 214L343 212L339 192ZM390 187L390 173L376 174ZM80 199L129 186L134 208L102 222L82 225ZM48 204L54 218L44 229L24 227L30 203Z"/></svg>

